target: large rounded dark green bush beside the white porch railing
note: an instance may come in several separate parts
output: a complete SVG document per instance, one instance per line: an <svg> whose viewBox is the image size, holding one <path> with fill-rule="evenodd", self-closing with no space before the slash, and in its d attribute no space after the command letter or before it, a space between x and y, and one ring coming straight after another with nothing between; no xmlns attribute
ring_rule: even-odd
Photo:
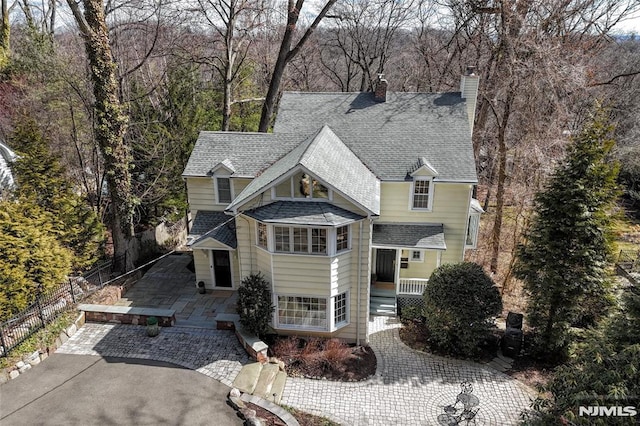
<svg viewBox="0 0 640 426"><path fill-rule="evenodd" d="M502 311L493 280L475 263L437 268L424 292L425 326L433 349L450 355L475 357L492 327L491 317Z"/></svg>

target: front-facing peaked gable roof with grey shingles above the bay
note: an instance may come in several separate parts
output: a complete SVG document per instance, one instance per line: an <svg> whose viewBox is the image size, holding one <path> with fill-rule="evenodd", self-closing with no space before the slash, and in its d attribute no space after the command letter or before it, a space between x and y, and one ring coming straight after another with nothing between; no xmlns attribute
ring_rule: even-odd
<svg viewBox="0 0 640 426"><path fill-rule="evenodd" d="M247 202L298 166L373 214L380 213L380 181L327 126L264 170L228 209Z"/></svg>

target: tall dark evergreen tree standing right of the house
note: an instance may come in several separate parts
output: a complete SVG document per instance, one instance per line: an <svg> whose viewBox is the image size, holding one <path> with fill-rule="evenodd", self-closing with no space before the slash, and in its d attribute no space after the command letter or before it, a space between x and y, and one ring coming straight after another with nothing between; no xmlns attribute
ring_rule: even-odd
<svg viewBox="0 0 640 426"><path fill-rule="evenodd" d="M612 132L607 111L596 107L564 163L536 195L534 217L518 250L515 273L529 296L534 348L546 357L566 357L572 322L581 310L602 311L608 298L609 211L618 197L618 166L608 158Z"/></svg>

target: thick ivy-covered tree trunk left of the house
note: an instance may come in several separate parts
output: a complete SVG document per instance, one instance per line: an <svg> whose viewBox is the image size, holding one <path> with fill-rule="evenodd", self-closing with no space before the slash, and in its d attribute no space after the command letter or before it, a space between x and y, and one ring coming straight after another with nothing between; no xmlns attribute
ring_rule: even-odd
<svg viewBox="0 0 640 426"><path fill-rule="evenodd" d="M84 20L79 20L77 4L67 0L74 10L85 41L91 65L91 81L95 98L95 134L102 151L104 168L111 198L110 223L114 248L114 268L130 270L135 259L128 254L129 241L134 235L134 197L131 185L132 156L124 141L127 112L118 97L116 63L111 54L109 32L101 0L83 0ZM73 4L73 6L72 6Z"/></svg>

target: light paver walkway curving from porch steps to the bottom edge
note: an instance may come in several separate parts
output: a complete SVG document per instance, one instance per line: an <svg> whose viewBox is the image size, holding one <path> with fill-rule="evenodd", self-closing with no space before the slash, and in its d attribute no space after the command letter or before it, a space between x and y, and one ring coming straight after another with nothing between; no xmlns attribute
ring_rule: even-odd
<svg viewBox="0 0 640 426"><path fill-rule="evenodd" d="M534 398L533 390L482 364L412 350L400 341L396 318L372 317L370 326L378 359L373 378L358 383L289 378L282 403L345 425L437 426L444 407L456 402L460 383L470 381L480 400L476 425L515 425Z"/></svg>

